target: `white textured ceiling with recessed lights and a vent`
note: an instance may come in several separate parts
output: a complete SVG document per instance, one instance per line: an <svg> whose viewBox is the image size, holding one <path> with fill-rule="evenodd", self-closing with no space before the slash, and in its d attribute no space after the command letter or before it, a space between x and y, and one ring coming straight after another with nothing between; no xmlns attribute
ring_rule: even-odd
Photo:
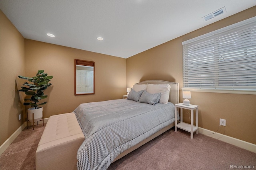
<svg viewBox="0 0 256 170"><path fill-rule="evenodd" d="M255 5L256 0L0 0L26 39L122 58ZM224 6L226 13L202 20Z"/></svg>

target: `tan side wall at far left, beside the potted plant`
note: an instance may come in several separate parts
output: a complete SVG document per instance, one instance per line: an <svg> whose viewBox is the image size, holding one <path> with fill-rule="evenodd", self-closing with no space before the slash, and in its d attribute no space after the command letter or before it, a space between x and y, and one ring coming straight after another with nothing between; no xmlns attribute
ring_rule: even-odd
<svg viewBox="0 0 256 170"><path fill-rule="evenodd" d="M15 79L25 73L24 37L0 10L0 145L24 122Z"/></svg>

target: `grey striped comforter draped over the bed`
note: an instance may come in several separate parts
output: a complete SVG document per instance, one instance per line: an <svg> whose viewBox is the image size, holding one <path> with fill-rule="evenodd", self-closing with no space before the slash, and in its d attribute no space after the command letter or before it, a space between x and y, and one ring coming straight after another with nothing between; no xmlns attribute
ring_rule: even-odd
<svg viewBox="0 0 256 170"><path fill-rule="evenodd" d="M80 104L74 110L85 135L78 170L106 170L124 150L174 122L174 105L127 99Z"/></svg>

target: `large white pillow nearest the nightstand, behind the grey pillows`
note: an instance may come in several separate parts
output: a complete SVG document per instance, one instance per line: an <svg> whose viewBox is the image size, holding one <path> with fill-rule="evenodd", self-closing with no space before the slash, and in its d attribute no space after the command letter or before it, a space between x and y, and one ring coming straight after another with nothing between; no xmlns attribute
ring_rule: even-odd
<svg viewBox="0 0 256 170"><path fill-rule="evenodd" d="M169 84L147 84L147 92L150 94L161 93L159 103L168 104L170 95Z"/></svg>

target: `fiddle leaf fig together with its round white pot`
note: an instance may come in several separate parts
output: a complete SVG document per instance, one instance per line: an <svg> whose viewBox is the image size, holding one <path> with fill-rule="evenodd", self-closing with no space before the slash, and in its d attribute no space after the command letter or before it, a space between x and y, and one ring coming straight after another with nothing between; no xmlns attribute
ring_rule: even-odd
<svg viewBox="0 0 256 170"><path fill-rule="evenodd" d="M28 109L28 120L30 122L36 122L40 121L43 117L43 107L38 107L41 105L46 104L46 102L43 102L41 104L38 104L39 100L45 99L48 96L44 95L44 90L46 90L49 86L52 84L49 83L50 80L53 78L53 76L48 76L46 73L44 73L44 70L38 70L38 73L36 76L30 78L30 77L24 77L24 76L18 76L19 78L28 80L31 83L25 82L23 85L27 87L21 87L22 89L18 90L20 92L25 92L26 95L31 96L28 99L24 99L24 105L28 106L30 105L32 108ZM30 102L26 102L30 100ZM33 121L33 113L34 113L34 121Z"/></svg>

